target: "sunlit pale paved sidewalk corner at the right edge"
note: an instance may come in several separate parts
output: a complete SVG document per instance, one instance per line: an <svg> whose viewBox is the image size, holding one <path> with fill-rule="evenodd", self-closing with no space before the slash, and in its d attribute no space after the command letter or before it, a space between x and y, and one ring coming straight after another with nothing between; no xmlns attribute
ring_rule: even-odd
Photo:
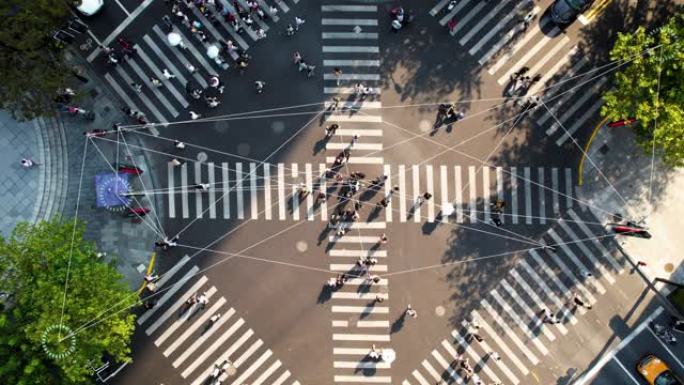
<svg viewBox="0 0 684 385"><path fill-rule="evenodd" d="M590 202L603 223L613 222L613 213L634 221L643 218L653 237L619 237L623 249L635 262L646 263L641 270L651 282L663 278L684 284L684 205L679 199L684 169L668 169L656 158L652 176L651 157L637 147L630 127L600 128L587 154L578 196Z"/></svg>

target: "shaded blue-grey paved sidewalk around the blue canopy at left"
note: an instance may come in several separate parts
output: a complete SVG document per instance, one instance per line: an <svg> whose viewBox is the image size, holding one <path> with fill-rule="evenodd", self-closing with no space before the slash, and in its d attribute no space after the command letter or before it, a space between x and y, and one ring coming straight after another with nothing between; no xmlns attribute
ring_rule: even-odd
<svg viewBox="0 0 684 385"><path fill-rule="evenodd" d="M87 73L85 76L90 78ZM95 174L111 172L107 161L112 165L116 161L117 145L94 139L96 146L92 143L87 146L84 161L87 139L83 133L96 128L109 129L114 122L126 121L113 102L115 99L98 84L101 83L91 78L88 83L72 87L84 96L83 100L73 104L94 111L94 121L63 115L57 119L17 122L5 111L0 111L0 179L3 191L0 233L9 234L20 221L36 222L59 215L64 220L71 220L76 214L81 166L84 164L78 218L87 224L86 238L98 244L100 251L106 253L105 258L116 256L119 271L130 287L137 289L154 251L154 241L159 239L151 227L159 228L160 225L152 215L145 218L150 224L148 226L126 218L120 212L95 207ZM108 139L115 140L116 135ZM127 136L126 140L138 146L144 145L138 136ZM151 179L145 153L133 150L132 157L127 158L123 145L118 151L121 163L135 163L145 170L142 181L135 176L130 178L132 189L142 190L141 183L147 190L153 189L155 183ZM19 162L23 157L40 165L26 169ZM153 208L159 215L163 213L161 205L157 209L158 202L138 199L143 206ZM163 218L160 217L159 222L163 223Z"/></svg>

